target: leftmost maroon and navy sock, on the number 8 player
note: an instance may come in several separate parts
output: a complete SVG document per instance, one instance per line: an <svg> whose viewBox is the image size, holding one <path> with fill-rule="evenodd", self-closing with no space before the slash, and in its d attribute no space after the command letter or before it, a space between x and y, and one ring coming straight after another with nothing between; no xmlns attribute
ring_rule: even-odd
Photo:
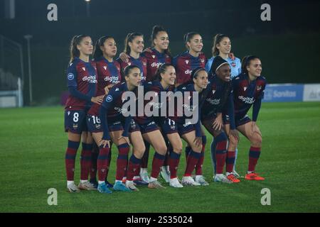
<svg viewBox="0 0 320 227"><path fill-rule="evenodd" d="M65 171L67 172L67 180L73 180L75 176L75 155L79 148L80 142L68 140L68 148L65 152Z"/></svg>

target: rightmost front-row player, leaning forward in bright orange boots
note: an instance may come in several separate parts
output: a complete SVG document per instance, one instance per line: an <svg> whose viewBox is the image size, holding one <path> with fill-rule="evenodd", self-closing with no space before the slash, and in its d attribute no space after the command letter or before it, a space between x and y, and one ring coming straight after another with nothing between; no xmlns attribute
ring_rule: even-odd
<svg viewBox="0 0 320 227"><path fill-rule="evenodd" d="M225 130L237 128L242 135L250 140L251 146L249 151L249 166L245 179L263 180L255 173L255 166L260 157L262 135L256 121L261 107L261 100L264 95L266 79L261 76L262 65L259 57L247 56L242 60L242 73L232 81L233 101L234 101L234 119L226 119ZM253 106L252 106L253 105ZM247 116L252 106L252 120ZM230 116L231 118L231 116ZM232 135L229 137L228 156L227 156L227 175L233 175L233 164L235 161L235 148L238 140Z"/></svg>

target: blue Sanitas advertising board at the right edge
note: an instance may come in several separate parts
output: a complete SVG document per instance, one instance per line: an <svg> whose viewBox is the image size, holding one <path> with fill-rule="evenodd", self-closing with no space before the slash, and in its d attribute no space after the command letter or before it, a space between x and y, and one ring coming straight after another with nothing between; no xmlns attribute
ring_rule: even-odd
<svg viewBox="0 0 320 227"><path fill-rule="evenodd" d="M320 84L267 84L262 101L320 101Z"/></svg>

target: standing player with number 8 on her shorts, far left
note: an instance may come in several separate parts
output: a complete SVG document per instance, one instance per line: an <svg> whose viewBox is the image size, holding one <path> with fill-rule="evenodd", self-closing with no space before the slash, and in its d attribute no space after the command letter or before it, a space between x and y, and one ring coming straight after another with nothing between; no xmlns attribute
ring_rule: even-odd
<svg viewBox="0 0 320 227"><path fill-rule="evenodd" d="M87 182L90 169L92 138L87 133L85 116L92 103L101 104L103 98L102 96L95 96L97 72L95 63L89 60L89 56L92 55L92 48L92 40L88 35L73 37L70 45L70 65L67 70L70 95L65 104L65 131L68 132L65 169L69 192L79 192L79 189L95 189L90 182ZM77 187L74 183L75 156L80 145L81 134L81 177L79 187Z"/></svg>

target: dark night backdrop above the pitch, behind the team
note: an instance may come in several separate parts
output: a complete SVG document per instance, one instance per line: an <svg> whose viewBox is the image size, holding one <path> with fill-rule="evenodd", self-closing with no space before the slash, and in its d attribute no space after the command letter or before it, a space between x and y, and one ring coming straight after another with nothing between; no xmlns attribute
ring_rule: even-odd
<svg viewBox="0 0 320 227"><path fill-rule="evenodd" d="M8 0L6 0L8 1ZM125 4L124 4L125 2ZM58 6L58 21L48 21L47 6ZM260 6L271 6L271 21L261 21ZM4 6L4 1L1 1ZM173 55L185 50L183 35L201 33L203 52L211 57L215 33L230 35L232 51L242 58L247 54L262 59L263 74L269 83L316 83L320 71L319 1L16 1L16 18L6 19L0 10L0 34L23 46L25 82L24 103L28 97L28 58L26 40L31 34L31 69L33 105L58 104L67 90L65 69L70 39L75 34L91 35L95 42L101 35L113 35L118 54L129 32L144 33L150 45L151 28L166 28ZM0 9L5 9L0 7ZM6 55L6 52L5 52ZM18 57L1 57L0 68L15 71ZM14 73L14 72L12 72ZM19 71L14 73L21 77Z"/></svg>

